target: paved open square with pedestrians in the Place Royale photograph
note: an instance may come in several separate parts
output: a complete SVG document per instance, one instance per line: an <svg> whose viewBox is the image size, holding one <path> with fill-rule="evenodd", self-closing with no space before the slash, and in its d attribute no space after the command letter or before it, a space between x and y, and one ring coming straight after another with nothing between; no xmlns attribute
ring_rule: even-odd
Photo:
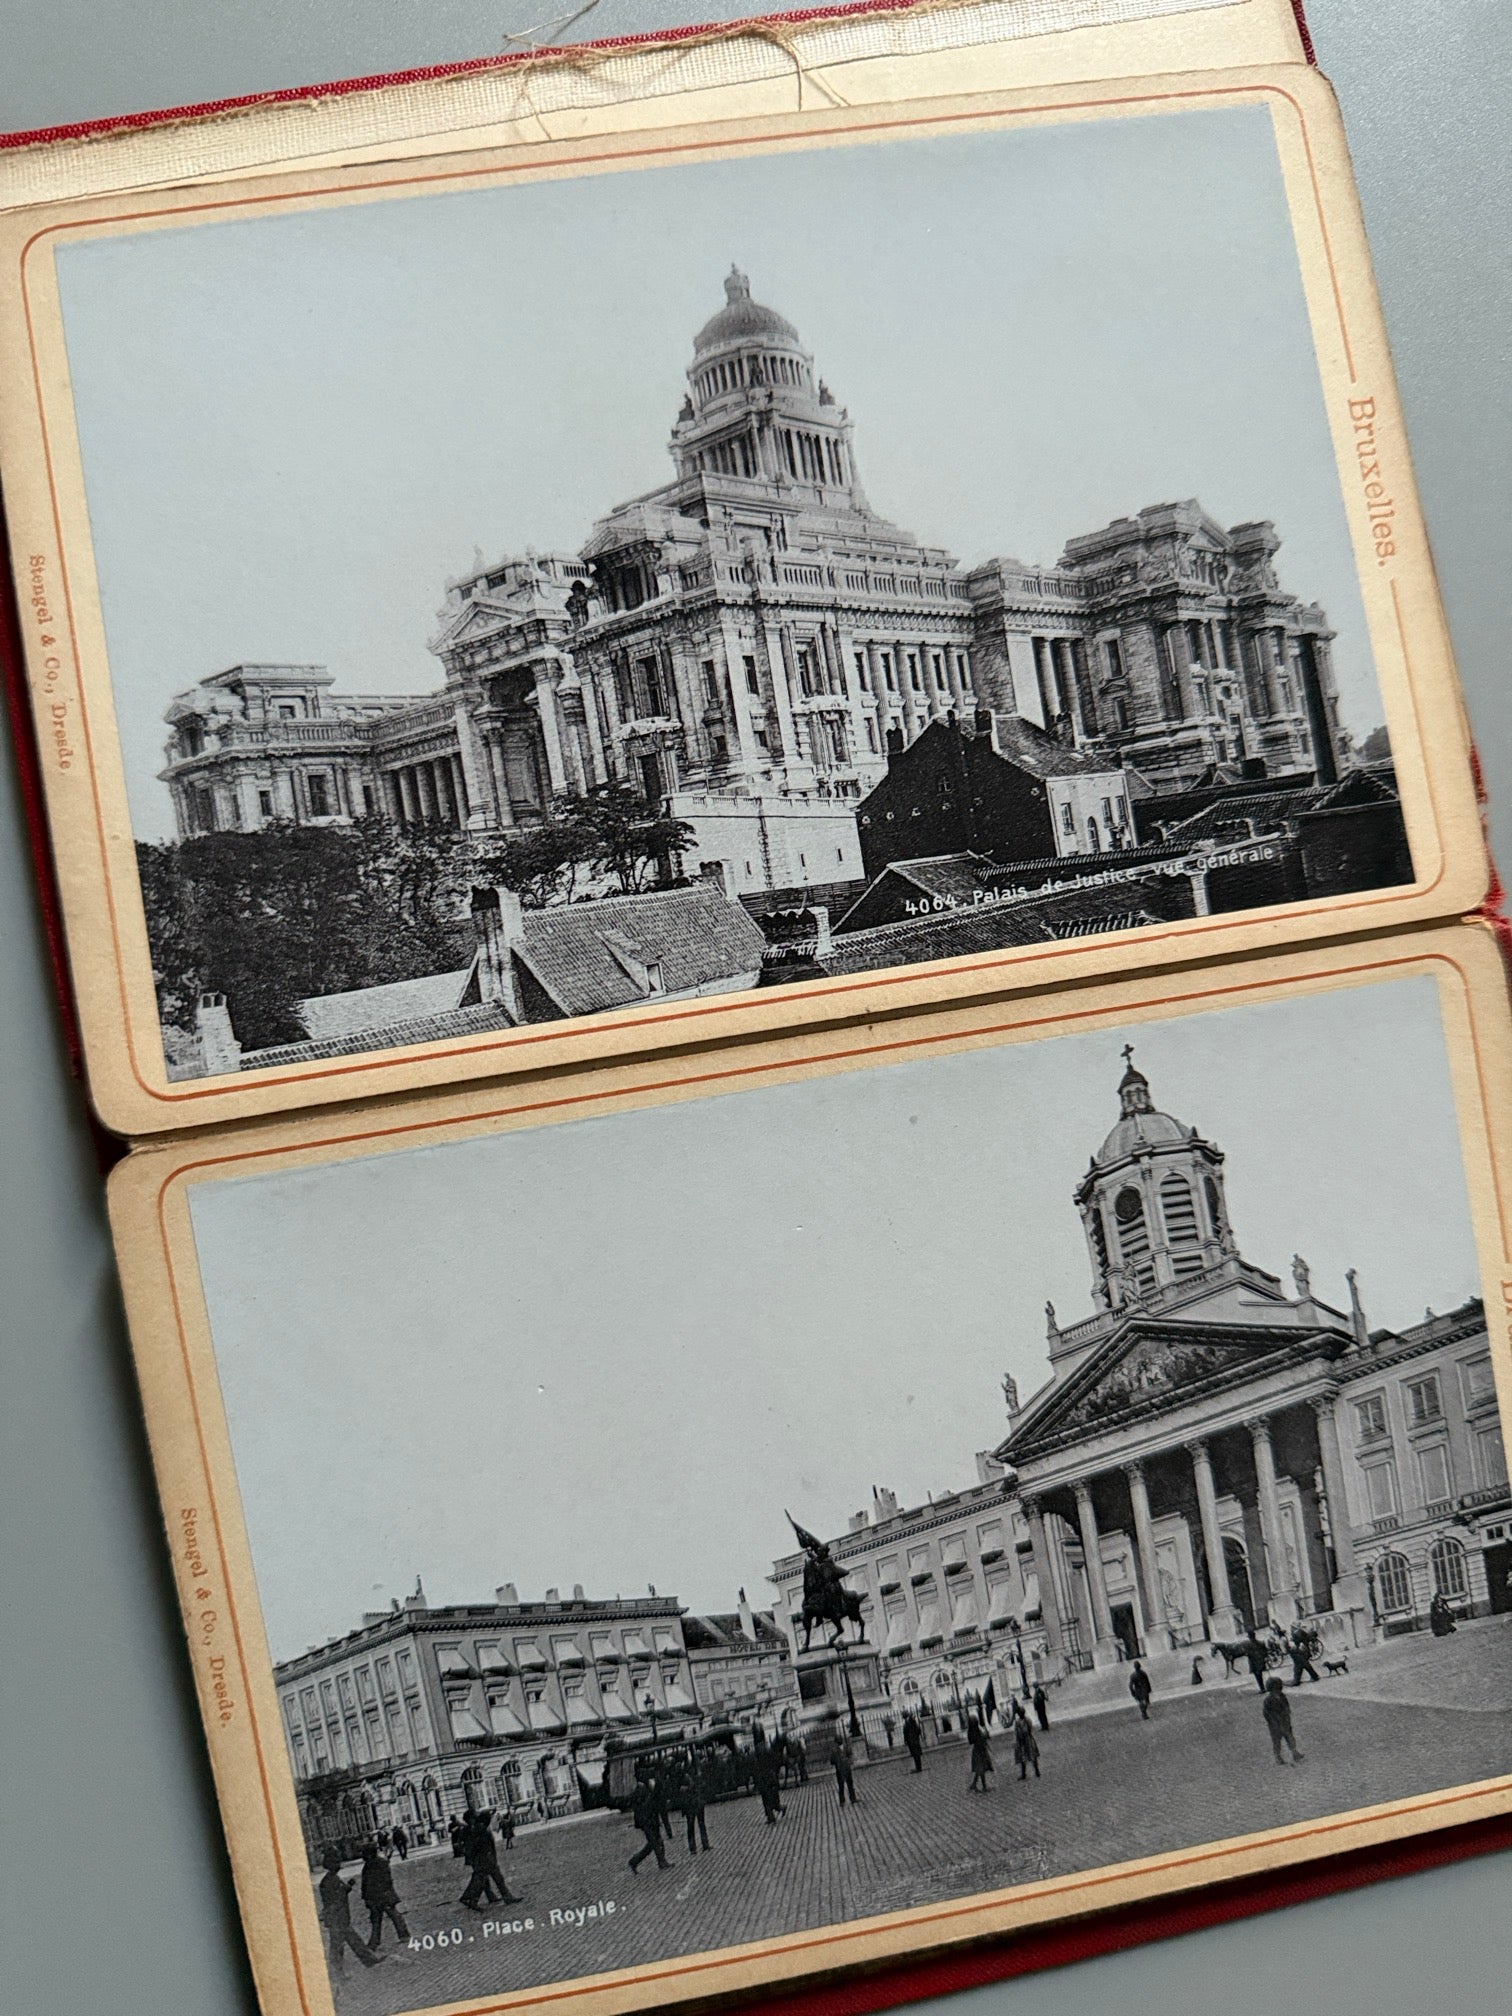
<svg viewBox="0 0 1512 2016"><path fill-rule="evenodd" d="M1447 1639L1367 1647L1347 1675L1302 1685L1296 1768L1276 1768L1246 1677L1157 1693L1149 1722L1129 1702L1054 1724L1040 1736L1042 1778L1026 1784L1012 1742L994 1736L986 1798L968 1794L966 1750L948 1744L925 1752L919 1776L901 1754L857 1770L855 1808L839 1806L829 1772L784 1794L776 1826L756 1798L712 1806L712 1851L689 1857L679 1822L665 1871L629 1871L641 1837L621 1814L538 1826L502 1857L522 1905L482 1917L458 1907L462 1863L423 1851L395 1861L395 1881L411 1935L448 1943L413 1951L389 1931L385 1966L347 1958L337 2004L343 2016L389 2016L1504 1776L1510 1702L1512 1617L1488 1619ZM583 1915L593 1905L599 1915ZM355 1891L353 1921L367 1931ZM490 1921L522 1929L486 1931Z"/></svg>

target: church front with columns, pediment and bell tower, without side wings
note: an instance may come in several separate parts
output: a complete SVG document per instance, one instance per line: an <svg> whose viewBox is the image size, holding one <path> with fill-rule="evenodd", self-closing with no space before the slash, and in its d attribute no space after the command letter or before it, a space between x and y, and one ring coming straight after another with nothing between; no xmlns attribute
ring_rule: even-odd
<svg viewBox="0 0 1512 2016"><path fill-rule="evenodd" d="M1222 1149L1125 1066L1075 1191L1097 1312L1046 1312L1050 1383L996 1452L1060 1671L1365 1611L1335 1421L1359 1308L1244 1260Z"/></svg>

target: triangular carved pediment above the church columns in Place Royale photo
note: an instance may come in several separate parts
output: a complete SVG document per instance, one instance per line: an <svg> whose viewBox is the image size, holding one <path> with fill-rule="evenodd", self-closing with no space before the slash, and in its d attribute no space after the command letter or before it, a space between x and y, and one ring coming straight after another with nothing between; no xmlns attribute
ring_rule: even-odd
<svg viewBox="0 0 1512 2016"><path fill-rule="evenodd" d="M1349 1337L1333 1329L1131 1316L1060 1391L1046 1393L998 1454L1016 1464L1040 1445L1099 1435L1139 1415L1244 1385L1278 1363L1339 1357L1347 1349Z"/></svg>

